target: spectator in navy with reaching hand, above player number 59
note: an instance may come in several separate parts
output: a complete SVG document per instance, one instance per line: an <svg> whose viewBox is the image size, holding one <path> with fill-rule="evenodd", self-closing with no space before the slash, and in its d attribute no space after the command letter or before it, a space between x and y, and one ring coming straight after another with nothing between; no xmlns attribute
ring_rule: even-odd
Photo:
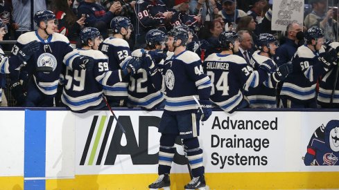
<svg viewBox="0 0 339 190"><path fill-rule="evenodd" d="M107 28L110 25L110 21L114 15L119 15L121 10L122 7L119 1L114 2L106 12L103 6L96 3L96 0L84 0L78 6L78 18L85 14L85 26L98 28L101 35L106 38L108 37Z"/></svg>

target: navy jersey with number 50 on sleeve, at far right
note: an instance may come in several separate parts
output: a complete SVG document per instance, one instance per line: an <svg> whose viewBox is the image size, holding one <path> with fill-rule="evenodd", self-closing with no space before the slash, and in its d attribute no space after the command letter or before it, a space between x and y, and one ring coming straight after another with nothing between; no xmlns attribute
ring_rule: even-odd
<svg viewBox="0 0 339 190"><path fill-rule="evenodd" d="M306 45L300 46L293 57L293 72L286 77L280 96L299 103L315 100L315 86L318 77L325 72L322 62L318 59L324 53L313 52Z"/></svg>

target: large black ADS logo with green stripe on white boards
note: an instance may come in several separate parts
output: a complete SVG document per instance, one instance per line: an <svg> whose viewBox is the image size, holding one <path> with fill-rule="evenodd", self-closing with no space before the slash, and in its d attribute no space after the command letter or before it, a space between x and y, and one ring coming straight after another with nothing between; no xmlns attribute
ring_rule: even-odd
<svg viewBox="0 0 339 190"><path fill-rule="evenodd" d="M137 137L134 133L130 117L119 116L118 118L126 131L124 135L117 124L113 126L113 116L95 115L87 135L87 140L84 142L85 147L82 151L80 165L114 165L117 155L130 155L132 164L157 164L158 153L148 153L148 136L152 135L148 129L150 126L158 126L160 118L156 116L139 116L139 134ZM108 122L106 122L107 120ZM112 137L110 137L110 133L113 133ZM137 139L139 139L139 142ZM108 144L109 142L110 144ZM122 144L121 142L125 143ZM179 138L175 144L181 145ZM106 155L104 155L105 153ZM184 153L175 151L174 162L176 164L187 164Z"/></svg>

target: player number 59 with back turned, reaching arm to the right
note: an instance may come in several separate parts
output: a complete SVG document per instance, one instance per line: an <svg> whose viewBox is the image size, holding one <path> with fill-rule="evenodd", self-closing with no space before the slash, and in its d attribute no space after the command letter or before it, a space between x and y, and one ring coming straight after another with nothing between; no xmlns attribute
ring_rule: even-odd
<svg viewBox="0 0 339 190"><path fill-rule="evenodd" d="M140 68L137 59L128 57L125 59L127 67L123 70L111 70L107 57L98 50L101 43L100 32L96 28L87 27L81 30L80 39L82 48L80 55L92 57L94 66L92 69L73 70L67 66L62 102L71 111L84 113L88 110L103 108L103 86L112 86L121 82L128 73L134 74Z"/></svg>

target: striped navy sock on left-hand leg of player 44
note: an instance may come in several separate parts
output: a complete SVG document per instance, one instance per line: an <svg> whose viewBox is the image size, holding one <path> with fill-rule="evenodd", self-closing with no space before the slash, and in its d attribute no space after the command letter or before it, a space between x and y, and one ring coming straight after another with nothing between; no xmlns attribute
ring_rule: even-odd
<svg viewBox="0 0 339 190"><path fill-rule="evenodd" d="M170 173L171 165L174 157L174 142L176 135L162 134L160 137L159 149L159 167L158 174Z"/></svg>

